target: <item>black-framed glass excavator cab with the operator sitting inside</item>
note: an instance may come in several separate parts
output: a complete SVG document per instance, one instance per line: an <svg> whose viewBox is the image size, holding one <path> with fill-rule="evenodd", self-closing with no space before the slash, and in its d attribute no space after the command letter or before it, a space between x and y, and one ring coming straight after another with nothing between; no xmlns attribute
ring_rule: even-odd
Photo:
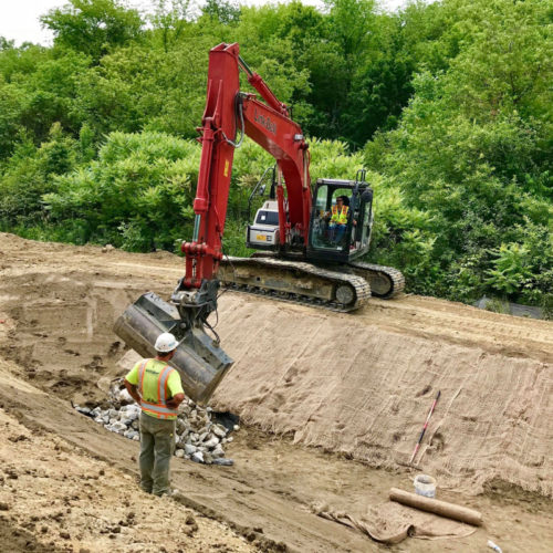
<svg viewBox="0 0 553 553"><path fill-rule="evenodd" d="M355 180L319 179L313 190L307 260L348 262L368 251L373 190Z"/></svg>

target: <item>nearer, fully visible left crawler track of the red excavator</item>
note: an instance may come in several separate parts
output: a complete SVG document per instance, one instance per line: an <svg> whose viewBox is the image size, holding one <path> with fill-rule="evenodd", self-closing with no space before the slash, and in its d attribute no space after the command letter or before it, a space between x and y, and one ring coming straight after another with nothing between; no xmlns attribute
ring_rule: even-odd
<svg viewBox="0 0 553 553"><path fill-rule="evenodd" d="M371 298L363 276L272 257L225 258L218 278L230 290L338 312L355 311Z"/></svg>

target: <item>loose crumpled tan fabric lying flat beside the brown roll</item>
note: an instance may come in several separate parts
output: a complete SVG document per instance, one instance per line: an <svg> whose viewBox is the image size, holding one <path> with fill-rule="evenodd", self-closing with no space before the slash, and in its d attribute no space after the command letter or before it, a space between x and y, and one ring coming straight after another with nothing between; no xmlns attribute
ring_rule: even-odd
<svg viewBox="0 0 553 553"><path fill-rule="evenodd" d="M367 534L377 542L399 543L406 538L438 540L440 538L465 538L476 532L476 528L444 519L431 513L388 501L371 507L362 517L352 517L344 511L315 510L324 518Z"/></svg>

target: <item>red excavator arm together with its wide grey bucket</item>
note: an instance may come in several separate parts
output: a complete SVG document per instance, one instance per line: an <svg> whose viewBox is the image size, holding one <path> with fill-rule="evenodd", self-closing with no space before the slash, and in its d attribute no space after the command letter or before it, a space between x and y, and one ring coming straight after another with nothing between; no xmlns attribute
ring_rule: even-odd
<svg viewBox="0 0 553 553"><path fill-rule="evenodd" d="M265 103L254 94L240 92L240 69ZM148 292L118 317L114 331L143 356L154 355L154 343L161 332L174 333L180 344L170 364L179 371L187 395L205 403L232 365L219 347L208 316L217 309L217 273L223 255L234 149L247 135L276 161L281 248L292 241L307 244L311 186L309 149L301 127L290 118L285 104L243 62L238 44L219 44L209 53L206 109L198 131L201 159L194 234L181 247L185 275L170 303Z"/></svg>

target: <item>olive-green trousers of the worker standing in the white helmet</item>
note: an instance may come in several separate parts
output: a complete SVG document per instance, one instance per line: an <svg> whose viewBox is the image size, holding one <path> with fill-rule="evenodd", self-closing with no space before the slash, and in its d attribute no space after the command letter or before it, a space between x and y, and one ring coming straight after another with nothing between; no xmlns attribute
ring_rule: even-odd
<svg viewBox="0 0 553 553"><path fill-rule="evenodd" d="M140 413L140 488L155 495L169 491L169 463L175 451L175 420Z"/></svg>

